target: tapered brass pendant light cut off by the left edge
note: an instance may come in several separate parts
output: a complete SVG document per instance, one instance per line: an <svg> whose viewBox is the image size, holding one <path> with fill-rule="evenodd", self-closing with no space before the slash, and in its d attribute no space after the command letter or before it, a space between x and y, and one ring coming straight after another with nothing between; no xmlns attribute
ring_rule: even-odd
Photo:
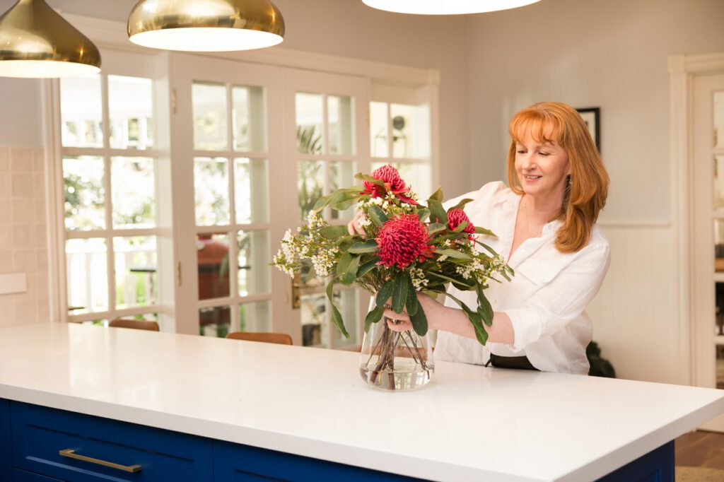
<svg viewBox="0 0 724 482"><path fill-rule="evenodd" d="M0 77L78 77L100 70L98 48L45 0L18 0L0 17Z"/></svg>

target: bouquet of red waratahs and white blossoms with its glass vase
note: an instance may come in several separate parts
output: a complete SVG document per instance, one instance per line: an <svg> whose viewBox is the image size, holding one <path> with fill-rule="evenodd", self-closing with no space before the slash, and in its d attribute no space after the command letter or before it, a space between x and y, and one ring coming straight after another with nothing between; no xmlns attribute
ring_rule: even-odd
<svg viewBox="0 0 724 482"><path fill-rule="evenodd" d="M494 234L473 226L463 211L471 199L460 200L445 211L438 189L422 204L390 165L355 178L363 185L320 198L307 224L295 234L287 231L274 266L292 277L299 273L303 280L329 277L332 321L345 337L349 334L332 298L334 284L356 284L369 291L374 300L364 324L363 379L387 389L423 386L434 366L432 347L426 342L427 318L416 292L437 297L450 283L463 291L475 291L476 307L447 296L465 311L478 341L485 344L485 326L492 324L493 311L484 289L489 280L502 281L495 275L510 280L513 270L481 241ZM346 226L330 225L319 216L327 206L342 211L355 204L361 211L358 224L364 235L350 235ZM396 313L406 311L413 330L393 331L387 320L378 323L386 307Z"/></svg>

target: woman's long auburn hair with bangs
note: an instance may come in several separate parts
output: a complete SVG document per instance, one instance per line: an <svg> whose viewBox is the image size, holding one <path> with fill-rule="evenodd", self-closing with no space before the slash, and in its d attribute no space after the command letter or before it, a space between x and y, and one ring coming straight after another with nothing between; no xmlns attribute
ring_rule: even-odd
<svg viewBox="0 0 724 482"><path fill-rule="evenodd" d="M530 134L538 143L557 143L568 154L571 175L560 213L555 217L563 221L555 237L555 248L561 253L583 249L606 205L610 182L586 123L568 104L539 102L515 114L508 132L508 185L518 195L523 195L523 188L515 172L515 143L521 143Z"/></svg>

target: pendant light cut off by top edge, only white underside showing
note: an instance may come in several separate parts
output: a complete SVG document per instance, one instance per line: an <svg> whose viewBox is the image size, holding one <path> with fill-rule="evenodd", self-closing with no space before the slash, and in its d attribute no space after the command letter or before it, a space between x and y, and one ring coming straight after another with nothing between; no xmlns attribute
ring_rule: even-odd
<svg viewBox="0 0 724 482"><path fill-rule="evenodd" d="M455 15L495 12L534 4L540 0L362 0L369 7L387 12Z"/></svg>

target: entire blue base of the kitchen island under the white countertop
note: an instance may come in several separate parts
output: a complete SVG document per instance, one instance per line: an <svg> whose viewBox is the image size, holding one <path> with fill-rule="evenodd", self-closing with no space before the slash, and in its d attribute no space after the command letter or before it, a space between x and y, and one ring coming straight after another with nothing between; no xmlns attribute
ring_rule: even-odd
<svg viewBox="0 0 724 482"><path fill-rule="evenodd" d="M670 441L600 480L668 482L673 481L673 470L673 441ZM409 482L418 479L0 399L0 482L99 480Z"/></svg>

